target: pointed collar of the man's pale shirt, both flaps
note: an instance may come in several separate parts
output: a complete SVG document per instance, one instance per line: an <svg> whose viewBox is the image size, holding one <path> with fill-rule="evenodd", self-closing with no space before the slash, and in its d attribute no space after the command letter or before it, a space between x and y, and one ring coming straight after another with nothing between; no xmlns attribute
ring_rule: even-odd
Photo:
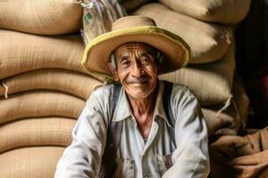
<svg viewBox="0 0 268 178"><path fill-rule="evenodd" d="M163 118L163 120L170 126L170 123L167 119L166 113L163 109L163 82L158 81L158 90L156 94L156 103L155 103L155 110L154 110L154 119L155 117ZM114 109L113 114L113 122L118 122L123 119L132 116L132 110L130 108L130 102L128 100L127 94L123 87L121 87L121 91L119 94L117 106Z"/></svg>

